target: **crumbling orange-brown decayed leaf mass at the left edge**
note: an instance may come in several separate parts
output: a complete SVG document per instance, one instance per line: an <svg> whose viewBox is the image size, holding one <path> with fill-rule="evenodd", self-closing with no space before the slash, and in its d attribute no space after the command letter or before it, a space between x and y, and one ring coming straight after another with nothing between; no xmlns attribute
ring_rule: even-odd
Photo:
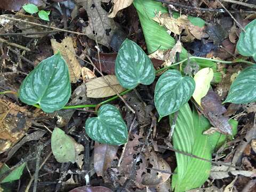
<svg viewBox="0 0 256 192"><path fill-rule="evenodd" d="M17 143L31 126L25 107L0 99L0 154Z"/></svg>

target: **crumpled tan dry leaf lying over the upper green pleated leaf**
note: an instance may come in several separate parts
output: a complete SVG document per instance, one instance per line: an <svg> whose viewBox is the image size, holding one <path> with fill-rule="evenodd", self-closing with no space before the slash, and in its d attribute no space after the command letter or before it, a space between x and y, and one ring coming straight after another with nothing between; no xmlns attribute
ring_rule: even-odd
<svg viewBox="0 0 256 192"><path fill-rule="evenodd" d="M182 38L182 40L185 40L184 42L192 42L195 38L201 39L207 36L204 32L205 27L194 26L186 15L180 15L179 18L175 19L170 17L168 13L161 14L159 12L153 20L177 35L180 35L182 30L185 29L187 36Z"/></svg>

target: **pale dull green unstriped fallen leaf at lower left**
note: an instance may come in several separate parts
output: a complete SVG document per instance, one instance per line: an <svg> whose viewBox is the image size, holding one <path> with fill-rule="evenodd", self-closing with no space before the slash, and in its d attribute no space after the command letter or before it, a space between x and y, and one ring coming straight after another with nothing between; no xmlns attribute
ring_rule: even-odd
<svg viewBox="0 0 256 192"><path fill-rule="evenodd" d="M74 163L76 161L76 149L73 138L64 131L55 127L51 137L52 153L59 163Z"/></svg>

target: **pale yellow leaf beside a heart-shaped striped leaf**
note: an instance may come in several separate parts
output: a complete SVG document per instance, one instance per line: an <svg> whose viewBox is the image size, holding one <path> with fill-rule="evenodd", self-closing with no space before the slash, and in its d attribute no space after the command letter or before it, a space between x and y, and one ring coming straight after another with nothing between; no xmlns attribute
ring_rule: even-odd
<svg viewBox="0 0 256 192"><path fill-rule="evenodd" d="M209 67L199 70L194 76L196 89L193 93L193 98L201 106L201 99L207 94L210 88L210 83L213 79L213 70Z"/></svg>

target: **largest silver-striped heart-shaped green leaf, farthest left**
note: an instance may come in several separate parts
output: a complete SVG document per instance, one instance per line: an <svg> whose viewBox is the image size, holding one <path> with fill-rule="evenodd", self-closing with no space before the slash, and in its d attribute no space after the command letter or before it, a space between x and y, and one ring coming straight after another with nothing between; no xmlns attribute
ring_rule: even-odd
<svg viewBox="0 0 256 192"><path fill-rule="evenodd" d="M19 90L22 102L38 103L46 113L64 107L70 95L68 67L60 53L41 61L23 80Z"/></svg>

